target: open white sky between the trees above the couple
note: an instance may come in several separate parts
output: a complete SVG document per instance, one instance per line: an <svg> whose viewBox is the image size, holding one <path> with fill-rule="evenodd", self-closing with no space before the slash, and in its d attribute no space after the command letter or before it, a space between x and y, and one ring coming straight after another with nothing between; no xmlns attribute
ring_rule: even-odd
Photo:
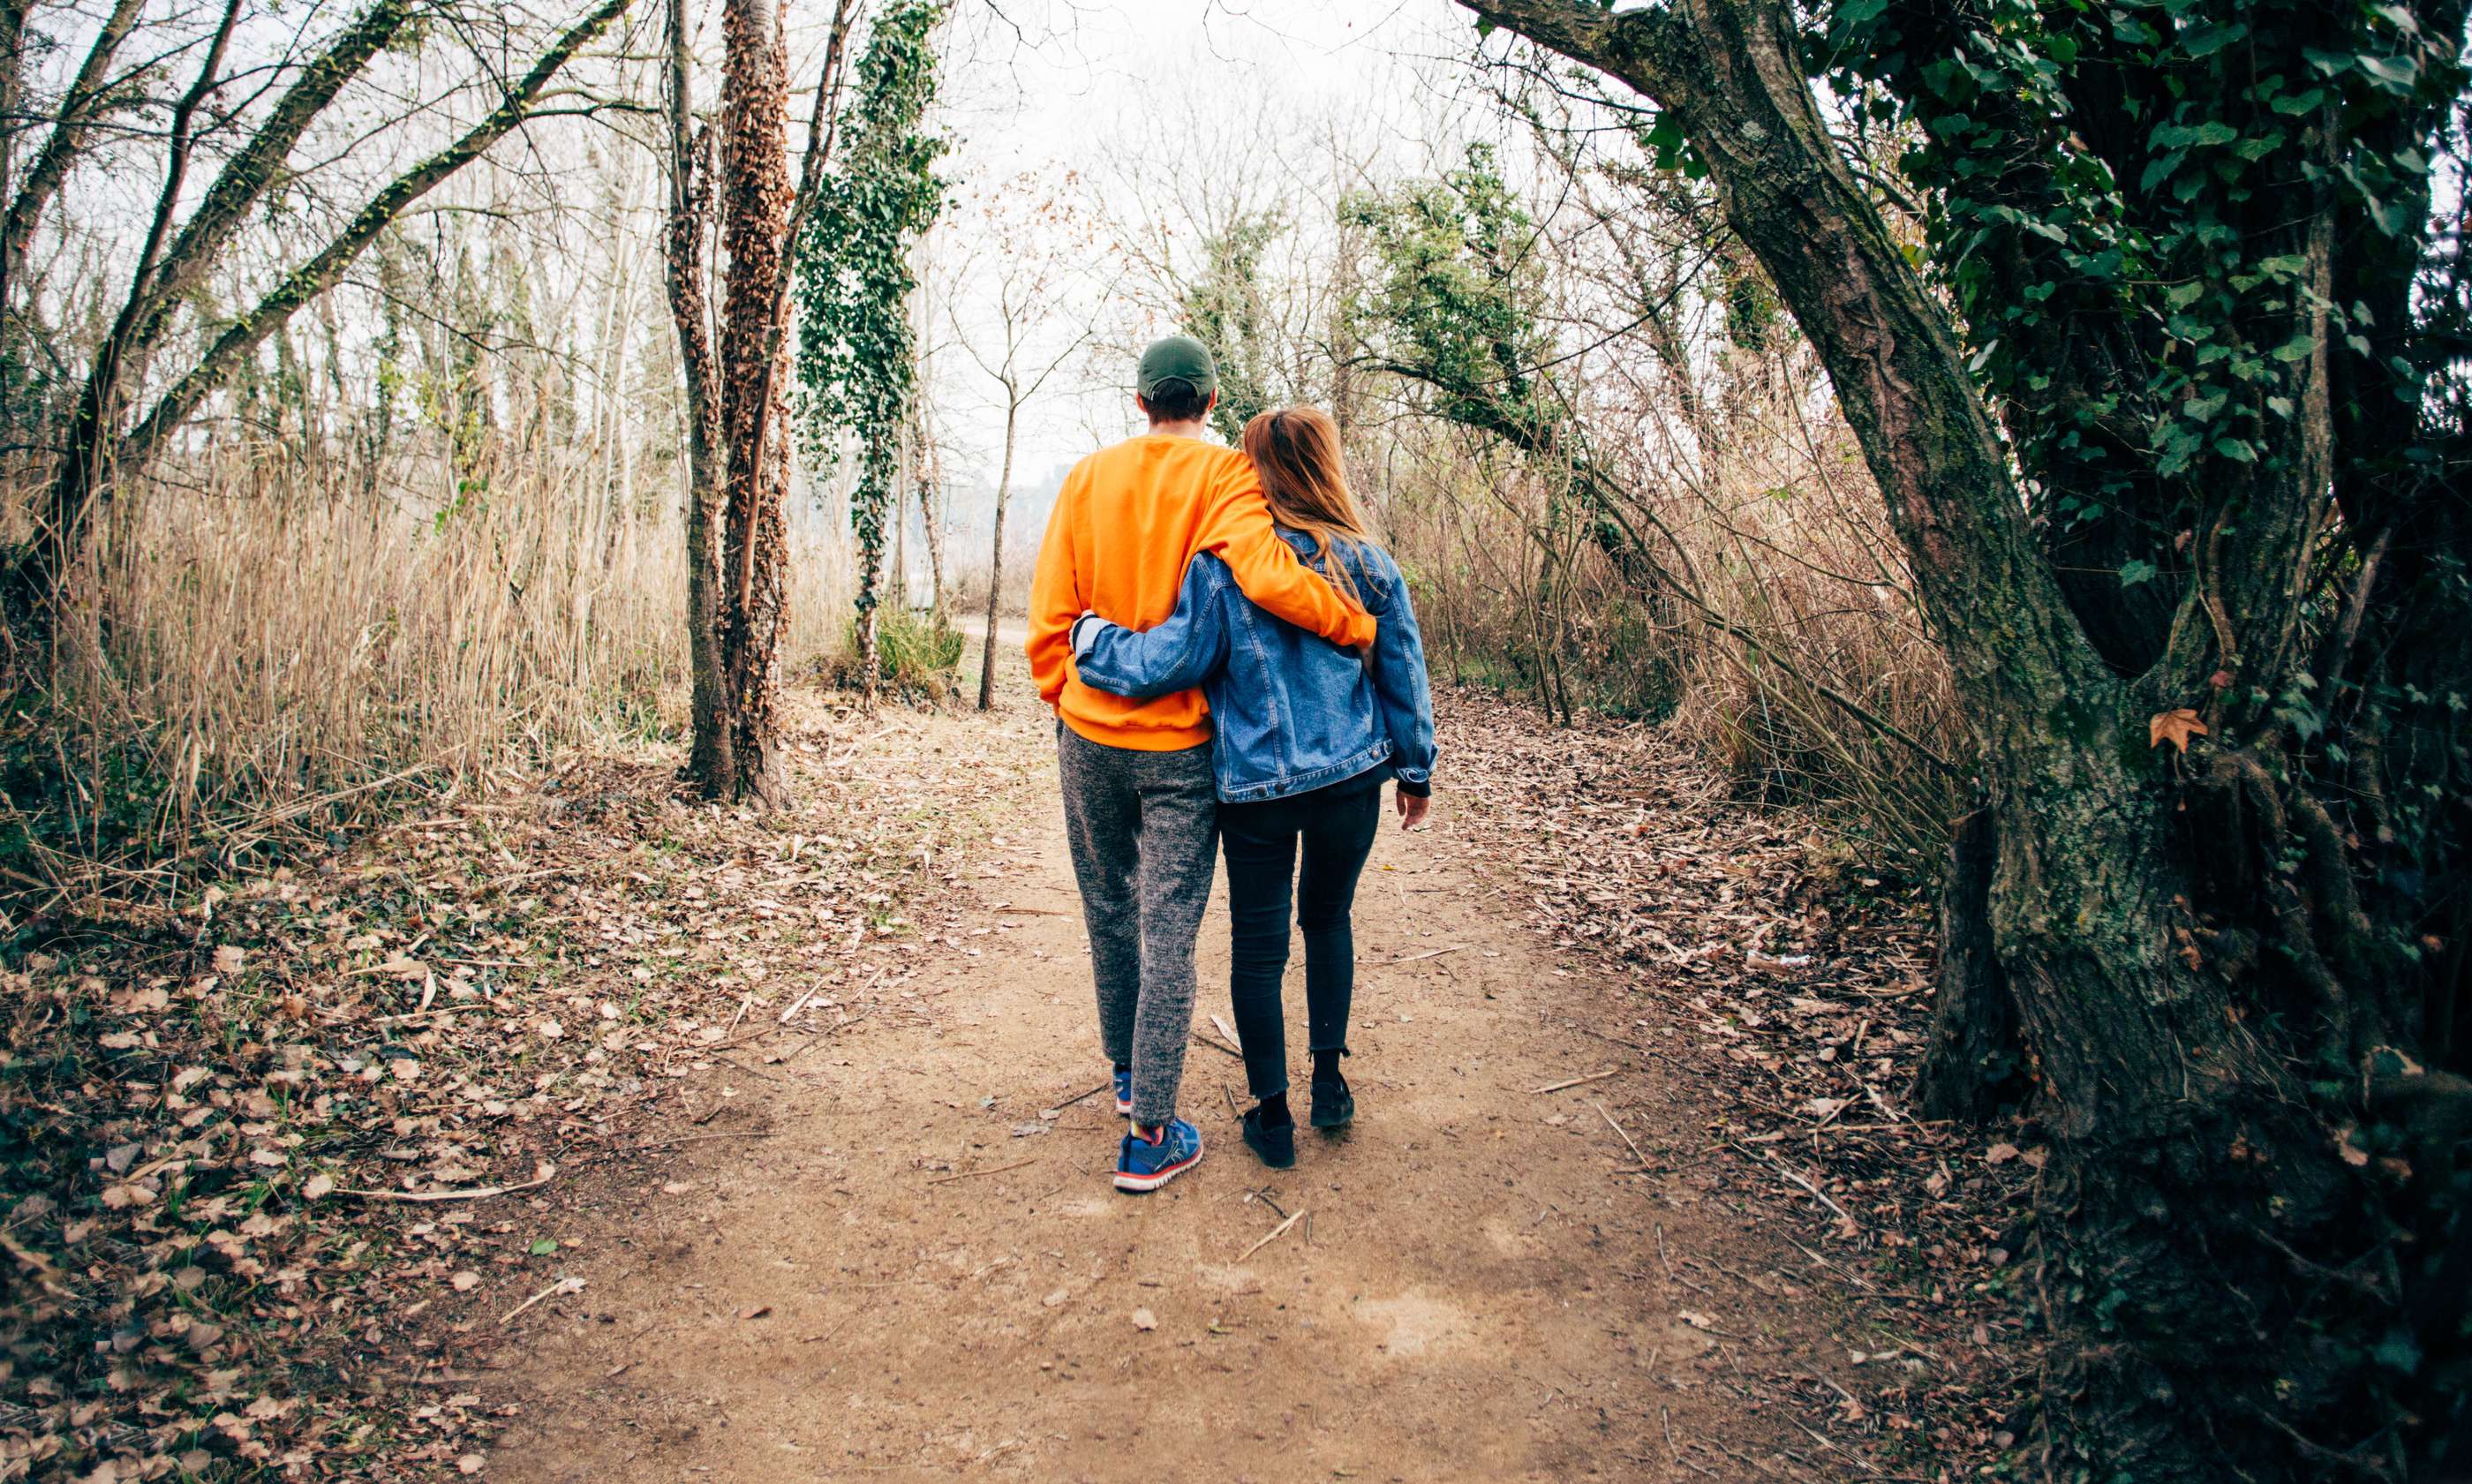
<svg viewBox="0 0 2472 1484"><path fill-rule="evenodd" d="M1473 22L1449 0L964 0L942 106L957 210L929 267L929 277L952 272L959 282L932 289L949 304L929 322L949 339L957 317L962 334L986 344L986 272L959 267L964 257L986 267L989 245L971 240L986 235L974 225L984 218L971 203L991 186L1070 173L1085 210L1132 225L1162 215L1159 181L1179 171L1219 176L1219 193L1253 181L1266 193L1293 190L1293 181L1271 178L1283 166L1266 151L1325 131L1421 168L1434 146L1451 148L1434 121L1451 111L1449 89L1463 82L1456 64L1471 47ZM1172 329L1157 317L1140 324L1142 309L1125 294L1105 314L1122 336ZM1046 331L1073 336L1088 319L1075 307ZM1056 391L1023 420L1016 490L1135 430L1122 386L1098 381L1130 381L1130 366L1110 371L1117 359L1088 356L1088 369L1068 366L1051 381ZM937 351L934 383L954 482L991 485L1004 430L991 383L949 346Z"/></svg>

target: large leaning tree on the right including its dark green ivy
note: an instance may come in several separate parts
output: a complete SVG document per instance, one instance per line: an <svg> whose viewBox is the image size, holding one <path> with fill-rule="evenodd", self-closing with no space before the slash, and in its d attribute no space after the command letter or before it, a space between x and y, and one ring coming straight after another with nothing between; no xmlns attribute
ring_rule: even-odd
<svg viewBox="0 0 2472 1484"><path fill-rule="evenodd" d="M1782 0L1466 2L1661 109L1948 648L1983 814L1921 1096L2054 1140L2044 1435L2104 1479L2460 1472L2472 450L2413 279L2465 7L1817 7L1923 141L1943 299Z"/></svg>

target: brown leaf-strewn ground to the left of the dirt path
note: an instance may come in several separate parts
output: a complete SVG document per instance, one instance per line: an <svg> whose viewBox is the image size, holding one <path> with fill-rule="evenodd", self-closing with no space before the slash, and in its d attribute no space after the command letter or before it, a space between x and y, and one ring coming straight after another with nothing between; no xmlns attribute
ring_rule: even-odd
<svg viewBox="0 0 2472 1484"><path fill-rule="evenodd" d="M902 1014L979 826L959 759L887 762L915 735L801 697L784 816L574 747L49 918L0 994L0 1479L477 1472L492 1415L440 1345L576 1286L529 1192Z"/></svg>

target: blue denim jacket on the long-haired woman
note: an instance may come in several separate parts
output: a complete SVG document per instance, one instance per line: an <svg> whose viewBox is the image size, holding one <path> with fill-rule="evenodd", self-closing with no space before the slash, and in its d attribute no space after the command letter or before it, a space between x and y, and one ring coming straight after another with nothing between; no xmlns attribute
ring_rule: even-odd
<svg viewBox="0 0 2472 1484"><path fill-rule="evenodd" d="M1313 561L1313 537L1280 537ZM1256 608L1226 561L1204 552L1187 566L1167 623L1142 633L1098 618L1073 626L1080 680L1135 697L1199 685L1216 722L1211 769L1229 804L1285 799L1372 769L1429 787L1434 695L1407 579L1379 547L1337 559L1379 621L1372 665Z"/></svg>

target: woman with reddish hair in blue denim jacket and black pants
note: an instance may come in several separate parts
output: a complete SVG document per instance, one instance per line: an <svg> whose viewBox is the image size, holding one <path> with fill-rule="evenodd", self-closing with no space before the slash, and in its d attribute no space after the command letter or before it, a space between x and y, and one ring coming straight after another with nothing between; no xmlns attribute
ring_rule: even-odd
<svg viewBox="0 0 2472 1484"><path fill-rule="evenodd" d="M1355 994L1357 876L1382 821L1384 779L1397 779L1399 826L1424 819L1434 700L1407 579L1365 534L1340 472L1337 425L1315 408L1261 413L1246 423L1243 450L1280 537L1379 621L1372 650L1342 650L1273 618L1236 589L1224 561L1201 554L1184 574L1172 618L1135 633L1085 613L1073 626L1073 663L1083 685L1135 697L1199 685L1211 702L1234 918L1229 997L1258 1098L1243 1115L1243 1140L1283 1170L1295 1162L1278 997L1290 895L1305 932L1313 1125L1340 1128L1355 1118L1340 1056Z"/></svg>

